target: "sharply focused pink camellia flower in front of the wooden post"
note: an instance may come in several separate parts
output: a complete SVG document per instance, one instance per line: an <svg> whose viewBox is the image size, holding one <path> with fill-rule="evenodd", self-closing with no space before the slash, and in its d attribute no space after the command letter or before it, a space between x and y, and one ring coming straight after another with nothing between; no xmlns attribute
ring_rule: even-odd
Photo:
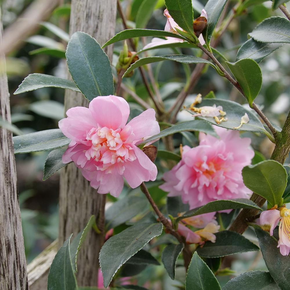
<svg viewBox="0 0 290 290"><path fill-rule="evenodd" d="M148 109L126 124L130 109L121 97L101 96L88 108L69 109L59 128L72 141L62 157L75 162L81 173L98 189L117 197L124 178L135 188L143 181L155 180L157 168L136 145L160 133L154 109Z"/></svg>

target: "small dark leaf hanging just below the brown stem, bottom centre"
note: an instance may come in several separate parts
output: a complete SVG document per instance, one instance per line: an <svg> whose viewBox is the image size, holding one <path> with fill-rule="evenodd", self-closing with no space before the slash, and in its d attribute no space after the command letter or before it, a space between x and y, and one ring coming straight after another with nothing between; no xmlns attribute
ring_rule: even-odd
<svg viewBox="0 0 290 290"><path fill-rule="evenodd" d="M161 260L164 267L172 280L175 280L175 265L178 256L182 252L184 244L168 245L162 252Z"/></svg>

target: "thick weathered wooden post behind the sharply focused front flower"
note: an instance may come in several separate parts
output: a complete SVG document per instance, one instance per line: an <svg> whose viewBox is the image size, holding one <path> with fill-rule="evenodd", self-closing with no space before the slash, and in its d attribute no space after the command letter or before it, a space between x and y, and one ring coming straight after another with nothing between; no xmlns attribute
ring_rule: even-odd
<svg viewBox="0 0 290 290"><path fill-rule="evenodd" d="M72 0L70 14L70 35L83 31L93 36L101 46L115 34L116 0ZM112 59L113 48L105 52ZM66 91L65 109L88 106L81 93ZM69 164L61 171L59 193L59 247L68 236L73 237L82 230L91 215L95 215L100 230L104 228L104 206L106 195L98 194L81 171ZM97 235L90 231L78 257L77 280L79 286L96 286L99 267L99 251L103 245L104 233Z"/></svg>

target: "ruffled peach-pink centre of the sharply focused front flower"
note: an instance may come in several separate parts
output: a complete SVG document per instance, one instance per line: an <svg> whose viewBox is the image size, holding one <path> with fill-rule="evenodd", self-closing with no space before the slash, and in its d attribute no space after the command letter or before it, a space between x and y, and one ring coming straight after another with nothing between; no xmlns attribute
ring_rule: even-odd
<svg viewBox="0 0 290 290"><path fill-rule="evenodd" d="M127 134L123 134L127 139ZM105 173L112 173L115 169L119 174L123 174L124 162L136 159L133 148L124 143L122 139L122 130L109 129L107 127L92 128L86 135L90 149L84 151L87 160L93 159L97 163L98 170ZM113 166L114 165L114 166Z"/></svg>

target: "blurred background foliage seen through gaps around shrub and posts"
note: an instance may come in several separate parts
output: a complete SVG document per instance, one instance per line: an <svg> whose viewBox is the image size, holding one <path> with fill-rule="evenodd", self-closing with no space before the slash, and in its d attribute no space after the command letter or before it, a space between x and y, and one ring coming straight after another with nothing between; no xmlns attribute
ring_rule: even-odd
<svg viewBox="0 0 290 290"><path fill-rule="evenodd" d="M0 0L3 16L4 28L9 26L21 12L23 12L31 0ZM136 27L136 22L140 21L143 0L123 0L121 6L126 15L127 25L130 28ZM237 1L229 0L228 11L236 4ZM193 0L196 10L201 10L206 0L197 2ZM272 2L265 1L260 4L251 6L244 13L234 18L230 23L228 30L223 34L217 50L219 50L229 61L234 62L238 48L247 40L247 34L255 28L255 26L267 17L279 15L284 16L278 9L272 11ZM163 15L165 9L164 0L156 1L156 6L152 9L152 14L148 19L146 28L164 30L166 17ZM138 12L139 11L139 12ZM139 14L138 14L139 13ZM64 117L64 90L60 88L42 88L20 95L13 95L23 79L30 73L44 73L55 75L57 77L66 78L66 60L64 52L68 41L70 1L63 1L62 5L55 9L47 22L41 23L39 30L32 35L19 48L10 53L6 58L7 74L9 81L10 102L12 123L21 129L23 133L41 131L46 129L58 128L59 119ZM140 16L141 15L141 16ZM194 11L194 18L200 14ZM139 20L138 20L139 17ZM145 23L146 24L146 23ZM124 30L122 19L117 15L116 33ZM138 50L151 39L139 39L137 43ZM123 48L123 42L119 42L114 46L113 56L113 73L116 75L114 66L117 64L119 52ZM200 50L195 48L182 49L154 49L143 52L143 56L164 55L183 53L186 55L201 56ZM225 66L224 59L219 57L219 61ZM189 65L191 71L194 64ZM265 115L277 126L282 127L287 117L290 107L290 47L285 44L279 50L273 52L266 57L261 63L262 70L262 89L255 102L264 111ZM148 69L148 68L146 68ZM186 72L182 64L174 61L163 61L152 64L153 75L157 86L160 90L162 99L166 107L173 104L175 97L186 83ZM148 93L143 85L139 71L136 70L130 78L124 78L123 83L135 91L146 102L150 102ZM240 95L238 90L233 88L231 84L223 77L220 77L211 67L206 67L197 85L186 98L184 105L193 102L195 96L201 93L205 96L213 91L217 98L229 99L239 102L245 107L249 107L246 100ZM142 108L135 101L121 90L121 96L130 104L131 110ZM134 111L132 112L134 114ZM177 116L177 122L190 120L192 117L186 111L182 111ZM274 148L274 144L267 137L259 133L242 133L243 136L252 139L252 147L256 151L253 162L257 163L261 160L269 159ZM191 147L198 145L198 136L183 132L174 136L175 150L179 153L179 145L189 145ZM165 149L162 142L159 149ZM16 167L18 177L19 201L21 206L21 217L23 226L23 235L25 242L25 251L27 261L30 262L38 253L46 248L53 240L57 238L58 232L58 192L59 192L59 172L52 175L48 180L42 181L44 161L49 152L38 152L31 154L16 155ZM164 160L157 157L156 165L159 174L157 181L148 182L149 191L159 206L166 205L166 193L158 188L161 184L162 174L168 170L168 166ZM289 165L289 159L286 164ZM139 188L129 189L126 186L119 198L127 194L141 194ZM116 199L108 195L107 207ZM148 209L140 213L142 217L148 212ZM122 231L128 225L123 224L114 231ZM251 241L257 243L255 234L248 229L244 235ZM166 238L161 236L161 238ZM150 242L151 253L160 260L160 253L157 246L152 247L157 242L157 238ZM147 247L149 250L150 245ZM163 248L162 248L163 249ZM182 260L178 260L177 278L171 280L166 274L163 266L148 266L142 271L142 275L134 276L138 279L138 284L144 284L144 287L150 289L179 289L185 281L184 267ZM223 261L222 270L218 273L218 280L223 286L230 278L249 270L266 270L267 268L262 259L260 252L249 252L226 257ZM129 270L128 270L129 271ZM130 271L126 273L129 275ZM150 280L150 282L146 282Z"/></svg>

